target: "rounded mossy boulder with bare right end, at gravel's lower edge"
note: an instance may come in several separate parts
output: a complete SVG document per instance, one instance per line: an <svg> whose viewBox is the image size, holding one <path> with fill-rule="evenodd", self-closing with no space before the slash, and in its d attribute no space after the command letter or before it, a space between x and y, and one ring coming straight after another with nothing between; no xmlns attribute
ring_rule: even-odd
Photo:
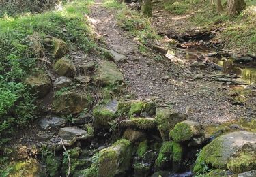
<svg viewBox="0 0 256 177"><path fill-rule="evenodd" d="M169 135L175 142L184 142L205 135L205 131L200 123L185 120L177 123Z"/></svg>

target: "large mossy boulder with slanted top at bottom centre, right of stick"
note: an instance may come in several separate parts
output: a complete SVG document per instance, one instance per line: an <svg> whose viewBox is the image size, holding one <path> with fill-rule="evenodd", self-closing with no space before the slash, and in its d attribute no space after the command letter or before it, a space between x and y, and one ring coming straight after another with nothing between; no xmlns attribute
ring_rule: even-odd
<svg viewBox="0 0 256 177"><path fill-rule="evenodd" d="M131 168L132 145L125 139L118 140L109 148L100 151L98 176L125 176Z"/></svg>

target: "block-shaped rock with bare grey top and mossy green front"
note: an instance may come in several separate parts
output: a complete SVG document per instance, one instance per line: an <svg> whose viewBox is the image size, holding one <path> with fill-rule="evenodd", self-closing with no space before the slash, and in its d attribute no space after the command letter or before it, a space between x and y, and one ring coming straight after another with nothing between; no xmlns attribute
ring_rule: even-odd
<svg viewBox="0 0 256 177"><path fill-rule="evenodd" d="M105 106L96 106L93 110L94 125L96 127L111 127L111 121L117 118L118 101L113 100Z"/></svg>

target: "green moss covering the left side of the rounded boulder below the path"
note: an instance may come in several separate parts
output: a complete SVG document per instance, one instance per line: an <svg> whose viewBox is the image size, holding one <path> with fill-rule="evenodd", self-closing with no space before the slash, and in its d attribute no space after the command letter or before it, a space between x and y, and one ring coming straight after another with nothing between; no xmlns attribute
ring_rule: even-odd
<svg viewBox="0 0 256 177"><path fill-rule="evenodd" d="M170 137L175 141L186 141L193 136L193 131L190 125L186 123L177 123L174 129L170 131Z"/></svg>

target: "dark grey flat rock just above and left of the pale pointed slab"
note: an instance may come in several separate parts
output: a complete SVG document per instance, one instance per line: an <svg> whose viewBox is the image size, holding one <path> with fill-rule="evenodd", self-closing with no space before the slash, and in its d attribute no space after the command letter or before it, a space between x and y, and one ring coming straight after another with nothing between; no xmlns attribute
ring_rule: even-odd
<svg viewBox="0 0 256 177"><path fill-rule="evenodd" d="M45 131L51 128L63 127L65 124L66 124L66 120L64 118L59 118L59 117L42 118L38 122L38 125L41 127L41 129Z"/></svg>

